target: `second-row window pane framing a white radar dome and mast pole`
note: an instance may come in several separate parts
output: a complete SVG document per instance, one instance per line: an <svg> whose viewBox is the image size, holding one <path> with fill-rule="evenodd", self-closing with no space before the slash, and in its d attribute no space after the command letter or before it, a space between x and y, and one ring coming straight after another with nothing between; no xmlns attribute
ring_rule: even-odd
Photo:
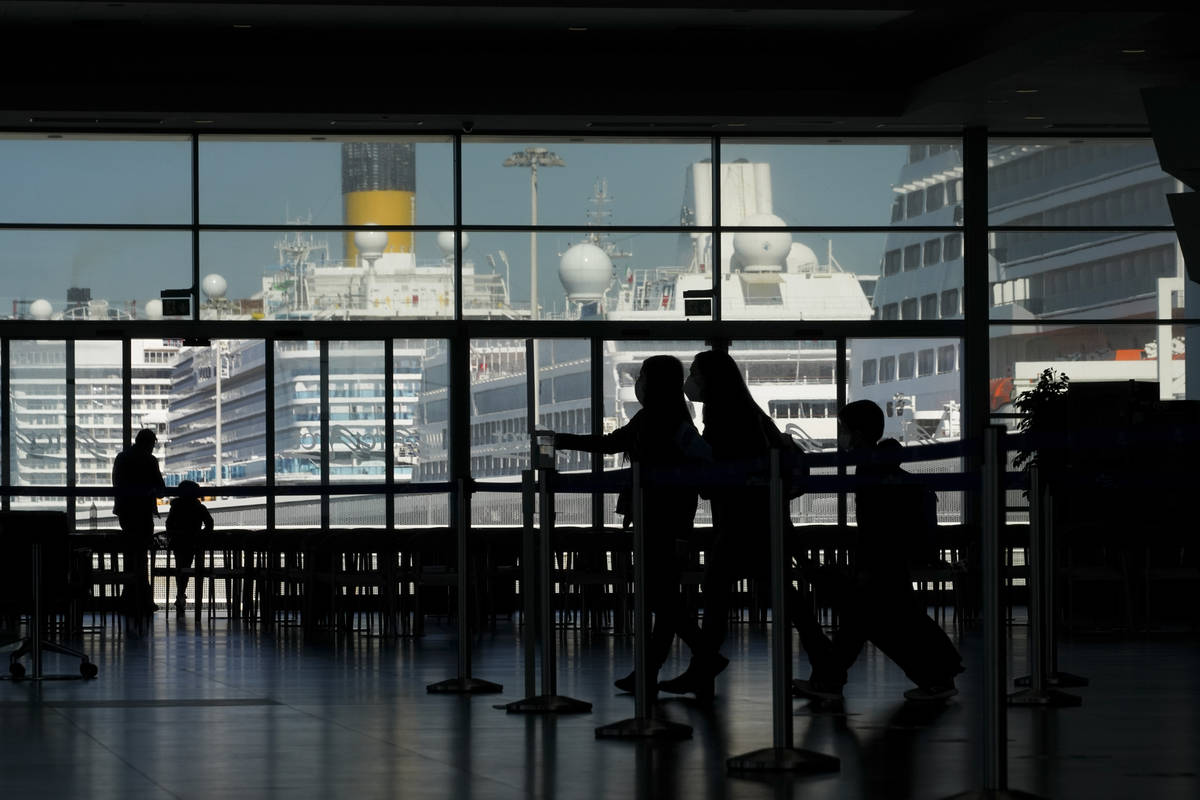
<svg viewBox="0 0 1200 800"><path fill-rule="evenodd" d="M539 319L684 319L683 293L710 290L708 234L470 234L474 277L505 287L464 291L463 314L527 319L536 271ZM530 253L536 258L532 259ZM486 264L486 266L485 266ZM464 282L468 281L464 275ZM485 303L485 305L481 305ZM704 309L707 312L707 308Z"/></svg>

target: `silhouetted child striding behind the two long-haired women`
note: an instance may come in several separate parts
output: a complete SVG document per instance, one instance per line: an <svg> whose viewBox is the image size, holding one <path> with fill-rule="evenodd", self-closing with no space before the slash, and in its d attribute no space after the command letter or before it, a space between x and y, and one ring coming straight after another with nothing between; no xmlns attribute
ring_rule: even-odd
<svg viewBox="0 0 1200 800"><path fill-rule="evenodd" d="M858 549L842 593L841 626L832 644L808 649L812 675L793 681L796 693L839 699L846 670L870 640L917 684L905 697L953 697L962 658L912 588L911 566L936 558L937 495L928 487L905 482L910 474L900 467L900 443L880 441L883 411L878 405L871 401L850 403L838 420L848 452L865 457L856 470L856 476L865 479L854 493Z"/></svg>

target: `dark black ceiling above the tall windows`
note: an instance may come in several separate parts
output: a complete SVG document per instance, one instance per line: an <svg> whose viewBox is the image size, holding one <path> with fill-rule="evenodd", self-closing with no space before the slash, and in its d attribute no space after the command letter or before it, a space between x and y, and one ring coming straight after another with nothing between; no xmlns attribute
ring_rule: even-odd
<svg viewBox="0 0 1200 800"><path fill-rule="evenodd" d="M1200 83L1189 12L809 6L0 0L0 127L1111 134Z"/></svg>

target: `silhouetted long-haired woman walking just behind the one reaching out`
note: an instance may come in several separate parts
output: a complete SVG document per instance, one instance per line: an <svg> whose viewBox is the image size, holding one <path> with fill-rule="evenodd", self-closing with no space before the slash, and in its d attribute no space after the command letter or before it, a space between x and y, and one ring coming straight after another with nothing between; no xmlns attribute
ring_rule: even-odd
<svg viewBox="0 0 1200 800"><path fill-rule="evenodd" d="M758 407L737 362L728 354L706 350L691 363L684 392L689 399L704 404L704 440L713 449L713 459L721 464L766 464L773 447L790 449L774 421ZM715 474L720 474L718 470ZM740 476L744 480L744 475ZM714 539L704 553L704 627L701 649L694 649L686 672L659 684L674 693L694 693L710 699L714 679L728 664L720 654L728 630L732 584L737 578L770 579L770 489L756 486L721 486L708 489L713 509ZM785 519L785 525L790 519ZM792 622L802 643L821 636L812 614L799 602L799 595L787 595Z"/></svg>

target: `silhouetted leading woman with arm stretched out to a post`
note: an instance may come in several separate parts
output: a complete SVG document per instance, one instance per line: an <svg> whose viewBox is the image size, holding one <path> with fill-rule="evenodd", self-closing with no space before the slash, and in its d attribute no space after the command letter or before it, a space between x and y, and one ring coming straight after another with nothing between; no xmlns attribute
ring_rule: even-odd
<svg viewBox="0 0 1200 800"><path fill-rule="evenodd" d="M650 356L642 362L634 392L642 404L628 425L605 435L559 433L554 446L563 450L625 453L649 473L686 468L712 461L708 444L701 439L691 422L691 414L683 397L683 365L670 355ZM626 525L632 509L622 493L617 510L625 515ZM696 518L696 489L691 486L650 483L642 503L646 530L646 590L648 607L654 614L649 637L649 664L655 674L667 658L671 642L677 633L696 650L697 642L689 631L680 631L683 599L679 593L680 565L676 557L676 541L688 540ZM642 599L638 597L637 602ZM698 632L698 631L697 631ZM616 681L617 688L632 692L636 672ZM654 680L650 685L654 685Z"/></svg>

